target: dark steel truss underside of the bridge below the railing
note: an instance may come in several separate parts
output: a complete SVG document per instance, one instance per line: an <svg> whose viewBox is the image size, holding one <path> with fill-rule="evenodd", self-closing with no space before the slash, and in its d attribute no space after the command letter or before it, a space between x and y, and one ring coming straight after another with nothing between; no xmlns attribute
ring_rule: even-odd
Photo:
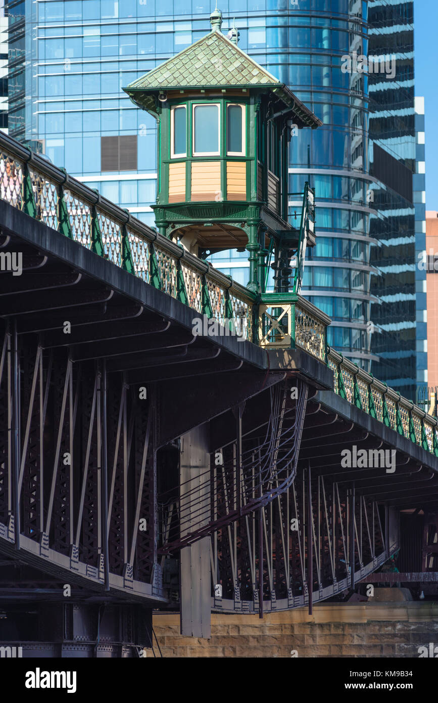
<svg viewBox="0 0 438 703"><path fill-rule="evenodd" d="M213 609L311 606L400 547L400 516L433 523L436 458L325 364L194 337L165 292L4 202L0 221L0 252L23 255L0 275L0 607L175 607L180 550L205 538ZM180 437L200 426L194 488ZM390 463L341 464L361 450ZM435 535L405 571L433 566Z"/></svg>

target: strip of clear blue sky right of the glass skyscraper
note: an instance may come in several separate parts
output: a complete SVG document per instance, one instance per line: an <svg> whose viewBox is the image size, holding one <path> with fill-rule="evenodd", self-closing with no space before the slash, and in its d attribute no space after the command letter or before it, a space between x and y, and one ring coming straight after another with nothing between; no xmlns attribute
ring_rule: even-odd
<svg viewBox="0 0 438 703"><path fill-rule="evenodd" d="M425 98L426 209L438 210L438 1L414 0L416 96Z"/></svg>

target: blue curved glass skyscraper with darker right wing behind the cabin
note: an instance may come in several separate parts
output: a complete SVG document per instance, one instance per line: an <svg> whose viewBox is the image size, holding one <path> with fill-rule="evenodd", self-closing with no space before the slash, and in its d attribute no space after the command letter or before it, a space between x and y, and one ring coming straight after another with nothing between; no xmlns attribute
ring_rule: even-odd
<svg viewBox="0 0 438 703"><path fill-rule="evenodd" d="M10 134L153 226L155 123L121 86L210 31L214 6L214 0L10 1ZM427 380L425 281L416 267L424 249L424 176L413 1L219 0L219 6L223 32L235 18L239 47L324 123L293 130L291 138L293 224L305 181L317 198L317 245L307 256L303 294L331 316L333 347L413 397ZM354 52L394 54L394 76L344 71ZM245 284L246 257L223 252L211 259Z"/></svg>

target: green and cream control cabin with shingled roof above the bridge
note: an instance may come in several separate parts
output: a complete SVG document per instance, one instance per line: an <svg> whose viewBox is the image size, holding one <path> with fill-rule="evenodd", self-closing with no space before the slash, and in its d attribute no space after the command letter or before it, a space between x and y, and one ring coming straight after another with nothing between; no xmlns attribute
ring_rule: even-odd
<svg viewBox="0 0 438 703"><path fill-rule="evenodd" d="M157 119L159 232L199 257L246 248L248 288L263 292L268 248L276 261L282 244L286 259L298 248L300 232L288 224L288 143L321 122L239 49L234 26L225 37L220 10L211 25L124 90Z"/></svg>

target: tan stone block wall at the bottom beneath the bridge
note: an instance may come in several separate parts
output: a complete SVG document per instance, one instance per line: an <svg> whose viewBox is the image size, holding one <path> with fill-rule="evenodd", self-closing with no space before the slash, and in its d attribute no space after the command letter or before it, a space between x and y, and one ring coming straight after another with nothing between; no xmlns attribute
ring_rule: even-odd
<svg viewBox="0 0 438 703"><path fill-rule="evenodd" d="M211 637L180 635L180 616L154 612L163 657L413 657L419 647L438 645L438 603L323 603L258 615L211 616ZM145 650L159 657L157 645Z"/></svg>

